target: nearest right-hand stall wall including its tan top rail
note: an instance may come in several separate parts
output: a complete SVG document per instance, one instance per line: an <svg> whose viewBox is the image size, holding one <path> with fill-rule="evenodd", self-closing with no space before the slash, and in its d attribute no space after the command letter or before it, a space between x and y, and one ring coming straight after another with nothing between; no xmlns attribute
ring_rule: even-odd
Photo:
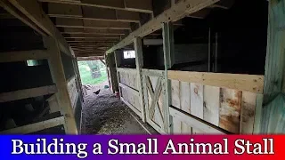
<svg viewBox="0 0 285 160"><path fill-rule="evenodd" d="M177 116L173 108L170 111L173 133L220 133L209 132L207 128L202 131L200 124L190 126L185 123L190 116L217 126L224 133L254 132L264 76L168 71L168 79L171 79L171 106L180 112Z"/></svg>

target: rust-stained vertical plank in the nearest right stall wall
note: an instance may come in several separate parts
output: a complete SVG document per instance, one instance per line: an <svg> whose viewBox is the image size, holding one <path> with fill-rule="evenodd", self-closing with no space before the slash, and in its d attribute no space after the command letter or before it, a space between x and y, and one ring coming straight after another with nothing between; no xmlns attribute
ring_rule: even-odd
<svg viewBox="0 0 285 160"><path fill-rule="evenodd" d="M241 92L221 88L219 126L232 133L240 132Z"/></svg>

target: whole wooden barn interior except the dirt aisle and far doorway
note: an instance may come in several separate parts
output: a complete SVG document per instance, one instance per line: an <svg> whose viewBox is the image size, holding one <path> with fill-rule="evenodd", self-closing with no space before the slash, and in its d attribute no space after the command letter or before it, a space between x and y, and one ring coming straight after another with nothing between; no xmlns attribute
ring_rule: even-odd
<svg viewBox="0 0 285 160"><path fill-rule="evenodd" d="M143 128L283 133L284 4L0 0L0 132L85 133L77 61L104 60Z"/></svg>

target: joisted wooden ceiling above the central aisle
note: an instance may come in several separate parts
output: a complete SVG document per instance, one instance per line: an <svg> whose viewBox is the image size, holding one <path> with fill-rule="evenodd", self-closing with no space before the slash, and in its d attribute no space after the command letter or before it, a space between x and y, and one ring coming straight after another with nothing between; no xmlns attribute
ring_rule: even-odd
<svg viewBox="0 0 285 160"><path fill-rule="evenodd" d="M38 0L77 57L104 55L152 15L152 0Z"/></svg>

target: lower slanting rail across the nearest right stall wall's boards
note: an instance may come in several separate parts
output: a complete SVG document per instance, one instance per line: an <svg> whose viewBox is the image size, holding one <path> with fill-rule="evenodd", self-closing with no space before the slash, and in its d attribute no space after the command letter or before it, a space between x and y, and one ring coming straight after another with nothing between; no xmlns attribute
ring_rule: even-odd
<svg viewBox="0 0 285 160"><path fill-rule="evenodd" d="M171 116L175 116L175 118L180 119L183 123L190 125L193 128L199 129L202 132L206 132L208 134L229 134L230 132L226 132L223 129L217 127L216 125L209 124L208 122L199 119L196 116L191 116L190 114L184 113L177 108L170 107L169 113Z"/></svg>

